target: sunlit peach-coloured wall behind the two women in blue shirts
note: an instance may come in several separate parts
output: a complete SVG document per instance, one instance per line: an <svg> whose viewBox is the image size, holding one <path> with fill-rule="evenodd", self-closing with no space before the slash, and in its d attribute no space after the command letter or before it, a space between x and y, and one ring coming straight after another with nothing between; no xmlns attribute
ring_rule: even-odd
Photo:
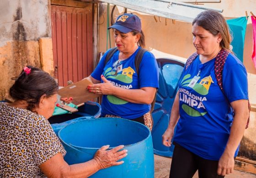
<svg viewBox="0 0 256 178"><path fill-rule="evenodd" d="M223 9L223 15L227 18L235 18L245 16L245 10L248 15L250 11L255 14L256 0L222 0L221 3L204 3L205 7ZM103 13L99 19L99 52L106 51L107 43L107 14L106 4L103 4ZM110 8L112 10L112 6ZM186 62L187 58L195 52L192 45L192 24L182 21L176 21L173 24L171 19L167 19L165 26L165 18L160 17L161 22L155 21L154 17L134 10L129 10L137 14L142 21L142 29L145 34L146 48L153 52L156 58L175 58ZM123 7L116 8L114 19L123 13ZM110 11L111 16L111 11ZM112 34L111 34L112 35ZM111 36L111 47L114 47L114 40ZM249 83L249 99L251 104L256 104L256 69L254 68L252 59L252 24L251 16L249 16L245 34L244 48L244 65L248 72ZM161 138L160 138L161 139ZM241 142L240 155L256 160L256 110L251 111L250 125L245 130L244 138Z"/></svg>

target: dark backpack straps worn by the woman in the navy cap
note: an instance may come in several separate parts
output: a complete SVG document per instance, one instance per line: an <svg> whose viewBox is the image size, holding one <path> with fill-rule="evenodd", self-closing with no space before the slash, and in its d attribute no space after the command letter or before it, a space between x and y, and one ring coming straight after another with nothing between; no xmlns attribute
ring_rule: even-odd
<svg viewBox="0 0 256 178"><path fill-rule="evenodd" d="M136 68L136 72L138 73L138 76L139 76L139 64L141 63L144 53L147 51L148 50L141 47L135 56L134 64L135 64L135 68ZM107 56L105 58L105 65L110 60L110 58L112 58L112 56L114 55L115 52L117 52L117 47L113 47L109 50L109 52L107 53ZM157 90L155 92L155 98L156 98L156 93L157 93ZM150 113L152 113L152 111L154 110L155 98L153 99L153 102L151 103Z"/></svg>

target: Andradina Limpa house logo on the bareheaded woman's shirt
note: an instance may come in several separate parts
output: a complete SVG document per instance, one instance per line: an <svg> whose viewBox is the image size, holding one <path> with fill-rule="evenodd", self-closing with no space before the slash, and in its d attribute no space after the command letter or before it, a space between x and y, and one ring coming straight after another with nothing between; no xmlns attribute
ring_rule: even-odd
<svg viewBox="0 0 256 178"><path fill-rule="evenodd" d="M191 78L190 74L185 75L181 81L181 87L187 87L192 79L193 78ZM197 117L207 114L207 112L199 112L198 110L205 111L203 101L207 101L207 98L204 95L208 94L212 83L214 83L213 79L209 75L208 77L201 79L199 83L195 84L192 89L200 95L192 94L184 88L179 89L179 100L184 102L184 104L181 105L181 108L187 113L187 115Z"/></svg>

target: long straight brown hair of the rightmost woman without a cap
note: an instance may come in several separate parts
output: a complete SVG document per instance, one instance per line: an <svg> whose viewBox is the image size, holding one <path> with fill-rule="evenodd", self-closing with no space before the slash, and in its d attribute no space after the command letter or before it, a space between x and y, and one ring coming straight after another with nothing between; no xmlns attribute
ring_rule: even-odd
<svg viewBox="0 0 256 178"><path fill-rule="evenodd" d="M202 26L205 30L209 31L216 36L220 33L222 40L220 47L230 50L230 42L232 37L229 33L227 22L219 12L215 10L205 10L197 15L193 20L192 25Z"/></svg>

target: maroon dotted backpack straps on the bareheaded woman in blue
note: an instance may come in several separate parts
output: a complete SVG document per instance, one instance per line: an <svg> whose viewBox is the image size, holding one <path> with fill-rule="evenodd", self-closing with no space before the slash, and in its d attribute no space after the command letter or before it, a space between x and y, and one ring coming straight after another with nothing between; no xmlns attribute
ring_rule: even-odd
<svg viewBox="0 0 256 178"><path fill-rule="evenodd" d="M223 67L224 64L226 62L226 59L228 57L230 52L221 49L220 52L217 54L216 59L215 59L215 63L214 63L214 73L217 79L217 83L219 85L219 88L221 89L222 93L225 95L224 90L223 90L223 83L222 83L222 71L223 71ZM194 61L194 59L196 59L198 56L197 52L193 53L188 59L187 62L185 64L185 70L187 70L188 66ZM229 104L230 105L230 104ZM249 111L251 111L251 105L250 102L248 100L248 109ZM247 120L247 124L245 126L245 129L248 128L249 125L249 121L250 121L250 115L249 118Z"/></svg>

